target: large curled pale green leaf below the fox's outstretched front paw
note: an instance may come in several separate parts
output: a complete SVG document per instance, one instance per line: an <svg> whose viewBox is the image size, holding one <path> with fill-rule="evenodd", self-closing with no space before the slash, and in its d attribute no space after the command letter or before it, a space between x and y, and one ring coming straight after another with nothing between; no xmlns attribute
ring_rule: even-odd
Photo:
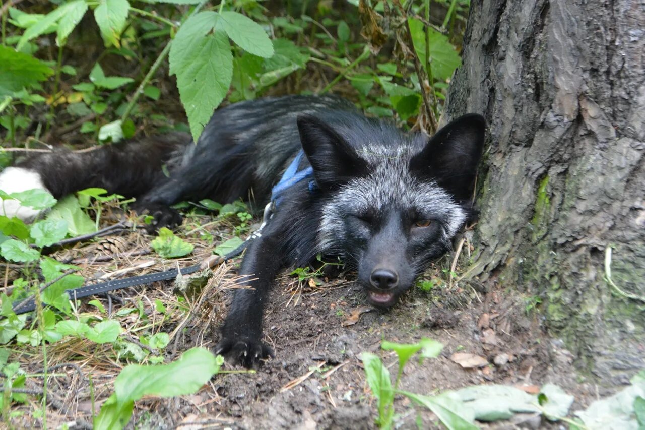
<svg viewBox="0 0 645 430"><path fill-rule="evenodd" d="M114 382L114 394L94 419L97 430L121 429L130 420L135 400L143 396L181 396L199 391L223 363L203 348L186 351L170 364L128 365Z"/></svg>

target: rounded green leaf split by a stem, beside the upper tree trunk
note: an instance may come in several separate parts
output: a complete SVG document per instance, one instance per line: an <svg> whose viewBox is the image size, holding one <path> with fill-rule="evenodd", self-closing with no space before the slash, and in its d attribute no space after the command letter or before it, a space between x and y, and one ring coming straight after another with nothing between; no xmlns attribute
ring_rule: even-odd
<svg viewBox="0 0 645 430"><path fill-rule="evenodd" d="M424 24L415 18L408 19L408 24L412 33L414 49L421 64L424 65L426 63ZM428 32L430 32L430 68L432 68L432 76L438 81L446 81L452 77L455 69L461 65L461 58L447 36L433 28L428 28Z"/></svg>

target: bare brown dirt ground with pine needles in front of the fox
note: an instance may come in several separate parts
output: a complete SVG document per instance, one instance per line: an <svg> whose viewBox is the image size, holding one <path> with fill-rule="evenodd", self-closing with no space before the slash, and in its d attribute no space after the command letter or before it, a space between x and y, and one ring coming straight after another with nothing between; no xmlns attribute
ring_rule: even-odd
<svg viewBox="0 0 645 430"><path fill-rule="evenodd" d="M150 236L139 232L124 233L59 251L55 256L65 261L84 259L87 278L137 265L150 267L124 276L177 264L176 260L163 261L141 251L146 249L149 240ZM110 246L121 249L110 251ZM95 258L109 256L110 252L120 257L108 261ZM124 257L128 253L130 257ZM210 247L198 244L193 261L208 254ZM141 261L154 261L154 265ZM181 264L193 261L185 260ZM232 292L234 274L235 264L219 267L201 296L190 291L174 292L172 282L160 282L117 291L109 301L105 297L100 300L115 318L119 318L115 315L120 309L138 306L142 309L139 315L152 321L152 329L146 323L148 333L171 333L171 342L164 351L165 362L170 362L190 347L213 347ZM439 266L432 267L427 276L441 276ZM422 364L412 360L404 369L401 388L414 393L433 394L475 384L515 385L532 393L540 385L552 382L575 396L575 410L586 407L599 394L611 392L577 376L575 358L564 349L562 342L544 334L539 313L527 310L524 298L517 292L501 291L495 285L485 291L459 283L452 287L444 284L429 292L413 288L392 310L378 311L366 305L365 294L353 282L354 278L352 272L341 272L321 278L322 285L315 285L306 281L299 283L297 278L285 274L273 291L265 318L266 339L275 350L275 358L263 363L257 373L235 373L241 369L225 364L224 371L234 372L217 374L192 396L144 398L136 402L129 427L375 428L377 407L366 384L359 354L363 351L379 354L394 376L397 359L394 353L381 351L382 340L413 343L428 337L444 344L439 358ZM155 300L171 309L177 304L177 297L182 296L193 311L174 312L161 322ZM91 309L84 304L79 311ZM124 336L132 342L136 342L137 334L145 333L137 328L141 327L141 316L130 314L119 319L126 329ZM454 353L475 354L485 358L488 364L464 369L451 360ZM37 373L43 363L40 354L39 349L27 347L21 349L17 358L23 369ZM82 426L91 422L92 391L95 411L98 411L112 393L114 378L128 363L117 360L116 355L113 345L96 345L73 338L50 347L49 363L77 366L67 364L57 369L58 376L50 380L50 396L54 399L48 409L50 427L73 422ZM92 376L91 388L89 376ZM26 387L37 388L39 384L42 380L28 378ZM37 407L36 399L16 405L15 410L25 412L32 408L33 411ZM406 398L395 400L395 411L399 428L417 428L419 422L422 428L439 426L431 413L414 407ZM516 421L493 427L543 428L547 425L535 416L518 416ZM36 421L30 413L25 413L13 423L17 427L32 427Z"/></svg>

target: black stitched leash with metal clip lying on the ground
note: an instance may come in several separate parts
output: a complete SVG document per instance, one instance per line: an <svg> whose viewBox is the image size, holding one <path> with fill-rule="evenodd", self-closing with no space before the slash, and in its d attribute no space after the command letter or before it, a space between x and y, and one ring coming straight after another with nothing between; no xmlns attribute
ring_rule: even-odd
<svg viewBox="0 0 645 430"><path fill-rule="evenodd" d="M250 243L262 236L262 229L266 225L267 221L271 218L272 212L272 203L268 203L264 208L264 217L262 224L259 229L255 230L246 240L239 245L239 247L233 249L233 251L224 254L223 256L210 256L206 258L202 263L195 264L192 266L184 267L183 269L170 269L164 272L155 272L148 273L140 276L133 276L132 278L117 279L106 282L97 282L91 285L85 285L84 287L79 287L76 289L67 290L67 294L70 296L70 300L76 300L83 297L94 296L96 294L103 294L104 292L120 290L128 287L135 287L137 285L146 285L148 283L164 281L169 279L177 278L178 274L186 275L191 274L200 270L209 269L224 263L225 261L231 260L241 254ZM36 309L36 304L34 298L30 300L18 300L14 302L14 312L16 314L24 314L26 312L32 312Z"/></svg>

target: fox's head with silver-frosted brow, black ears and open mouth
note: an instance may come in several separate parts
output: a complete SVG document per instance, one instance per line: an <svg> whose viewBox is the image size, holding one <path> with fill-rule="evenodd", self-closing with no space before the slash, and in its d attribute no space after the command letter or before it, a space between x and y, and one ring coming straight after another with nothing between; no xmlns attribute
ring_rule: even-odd
<svg viewBox="0 0 645 430"><path fill-rule="evenodd" d="M351 116L297 122L323 196L319 251L355 265L373 305L394 305L468 219L484 118L462 116L431 139Z"/></svg>

